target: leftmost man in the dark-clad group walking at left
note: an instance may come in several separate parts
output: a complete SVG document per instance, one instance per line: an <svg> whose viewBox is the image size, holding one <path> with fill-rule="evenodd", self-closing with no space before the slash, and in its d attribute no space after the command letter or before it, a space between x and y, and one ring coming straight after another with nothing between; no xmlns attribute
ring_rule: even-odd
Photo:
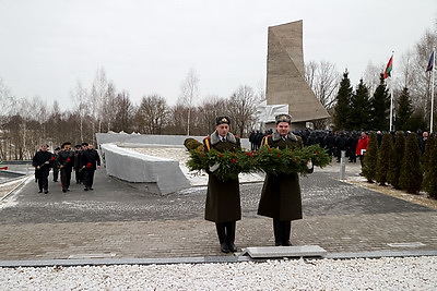
<svg viewBox="0 0 437 291"><path fill-rule="evenodd" d="M35 167L35 178L38 181L38 193L48 193L48 175L52 165L51 153L47 150L48 145L42 145L32 159L32 166Z"/></svg>

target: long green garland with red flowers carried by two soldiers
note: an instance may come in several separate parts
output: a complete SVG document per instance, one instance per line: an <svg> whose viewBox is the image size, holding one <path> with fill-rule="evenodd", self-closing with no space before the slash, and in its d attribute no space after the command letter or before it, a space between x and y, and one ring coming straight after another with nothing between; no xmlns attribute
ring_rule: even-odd
<svg viewBox="0 0 437 291"><path fill-rule="evenodd" d="M302 149L277 149L262 146L259 150L203 151L191 149L187 167L190 171L212 171L225 181L236 179L238 173L263 171L272 174L308 173L308 163L323 168L331 162L331 156L319 145Z"/></svg>

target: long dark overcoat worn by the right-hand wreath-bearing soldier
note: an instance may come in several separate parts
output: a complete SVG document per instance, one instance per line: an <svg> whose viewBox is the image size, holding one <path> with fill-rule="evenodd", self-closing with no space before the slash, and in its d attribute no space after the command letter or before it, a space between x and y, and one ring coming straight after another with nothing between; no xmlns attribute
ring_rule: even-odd
<svg viewBox="0 0 437 291"><path fill-rule="evenodd" d="M302 138L294 134L288 134L285 141L277 133L264 138L267 140L263 142L270 147L280 149L303 147ZM258 215L281 221L302 219L302 196L297 173L265 175Z"/></svg>

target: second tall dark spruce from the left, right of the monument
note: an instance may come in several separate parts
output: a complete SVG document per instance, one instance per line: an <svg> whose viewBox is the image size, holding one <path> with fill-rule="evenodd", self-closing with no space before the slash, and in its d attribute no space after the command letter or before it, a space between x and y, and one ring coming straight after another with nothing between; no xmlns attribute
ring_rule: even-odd
<svg viewBox="0 0 437 291"><path fill-rule="evenodd" d="M363 78L352 95L351 99L351 128L355 130L369 129L370 120L370 98L368 87Z"/></svg>

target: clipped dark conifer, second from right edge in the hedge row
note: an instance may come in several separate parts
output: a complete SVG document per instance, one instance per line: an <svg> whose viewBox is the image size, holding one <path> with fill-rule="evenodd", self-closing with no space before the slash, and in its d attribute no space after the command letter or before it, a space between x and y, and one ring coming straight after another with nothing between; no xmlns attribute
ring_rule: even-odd
<svg viewBox="0 0 437 291"><path fill-rule="evenodd" d="M399 184L406 193L417 194L422 185L421 149L415 133L406 137Z"/></svg>

